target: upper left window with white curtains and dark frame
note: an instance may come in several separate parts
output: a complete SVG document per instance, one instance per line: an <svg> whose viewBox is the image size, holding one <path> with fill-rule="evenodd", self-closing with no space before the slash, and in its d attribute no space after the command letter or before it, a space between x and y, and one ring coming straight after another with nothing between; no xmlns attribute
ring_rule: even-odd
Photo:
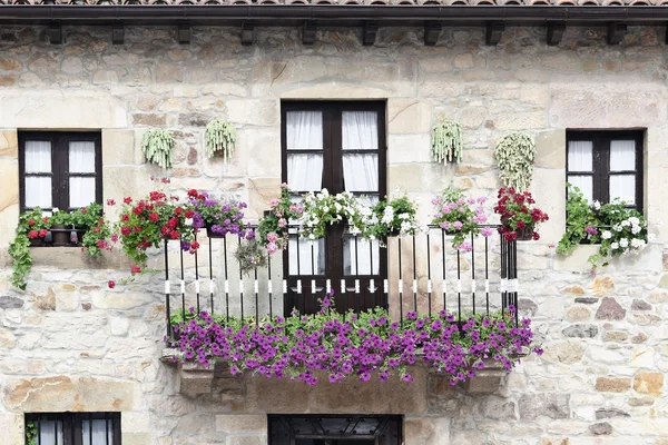
<svg viewBox="0 0 668 445"><path fill-rule="evenodd" d="M102 202L99 132L19 134L21 211L72 210Z"/></svg>

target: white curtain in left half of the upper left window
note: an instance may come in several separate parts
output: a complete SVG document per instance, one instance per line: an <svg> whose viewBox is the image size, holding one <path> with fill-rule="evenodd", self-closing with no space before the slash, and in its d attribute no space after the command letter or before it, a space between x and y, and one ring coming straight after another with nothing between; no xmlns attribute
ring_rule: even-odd
<svg viewBox="0 0 668 445"><path fill-rule="evenodd" d="M26 207L51 207L51 178L29 176L51 172L51 142L26 141Z"/></svg>

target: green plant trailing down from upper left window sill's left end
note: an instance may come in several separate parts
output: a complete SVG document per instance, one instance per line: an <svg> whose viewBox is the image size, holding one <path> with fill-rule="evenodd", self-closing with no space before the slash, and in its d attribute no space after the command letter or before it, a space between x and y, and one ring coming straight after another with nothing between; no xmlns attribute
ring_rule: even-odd
<svg viewBox="0 0 668 445"><path fill-rule="evenodd" d="M32 268L32 255L30 255L30 240L43 239L49 234L51 220L42 216L41 209L36 207L19 215L19 224L16 228L16 237L9 245L9 255L12 257L13 271L11 285L26 290L26 277Z"/></svg>

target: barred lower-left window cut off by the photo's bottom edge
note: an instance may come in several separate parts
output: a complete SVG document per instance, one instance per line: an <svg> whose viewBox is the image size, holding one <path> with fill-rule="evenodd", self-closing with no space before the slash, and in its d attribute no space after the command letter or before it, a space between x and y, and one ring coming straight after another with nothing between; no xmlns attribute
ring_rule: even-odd
<svg viewBox="0 0 668 445"><path fill-rule="evenodd" d="M120 413L26 414L26 445L120 445Z"/></svg>

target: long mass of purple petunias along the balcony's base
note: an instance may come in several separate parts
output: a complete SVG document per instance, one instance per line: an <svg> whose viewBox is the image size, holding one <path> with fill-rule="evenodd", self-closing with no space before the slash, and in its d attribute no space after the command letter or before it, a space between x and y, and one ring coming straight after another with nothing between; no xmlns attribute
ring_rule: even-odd
<svg viewBox="0 0 668 445"><path fill-rule="evenodd" d="M345 315L330 310L324 298L315 315L255 320L190 314L171 318L179 350L175 360L196 362L205 367L229 364L233 375L252 373L266 378L291 378L316 385L315 372L330 383L347 378L367 382L392 375L412 382L407 366L422 359L456 385L485 367L484 359L502 364L507 372L519 363L518 355L532 346L531 320L515 326L514 308L489 315L472 315L458 324L454 315L441 310L428 317L407 313L403 323L392 323L381 308ZM422 355L419 355L421 352ZM533 346L536 354L541 354Z"/></svg>

